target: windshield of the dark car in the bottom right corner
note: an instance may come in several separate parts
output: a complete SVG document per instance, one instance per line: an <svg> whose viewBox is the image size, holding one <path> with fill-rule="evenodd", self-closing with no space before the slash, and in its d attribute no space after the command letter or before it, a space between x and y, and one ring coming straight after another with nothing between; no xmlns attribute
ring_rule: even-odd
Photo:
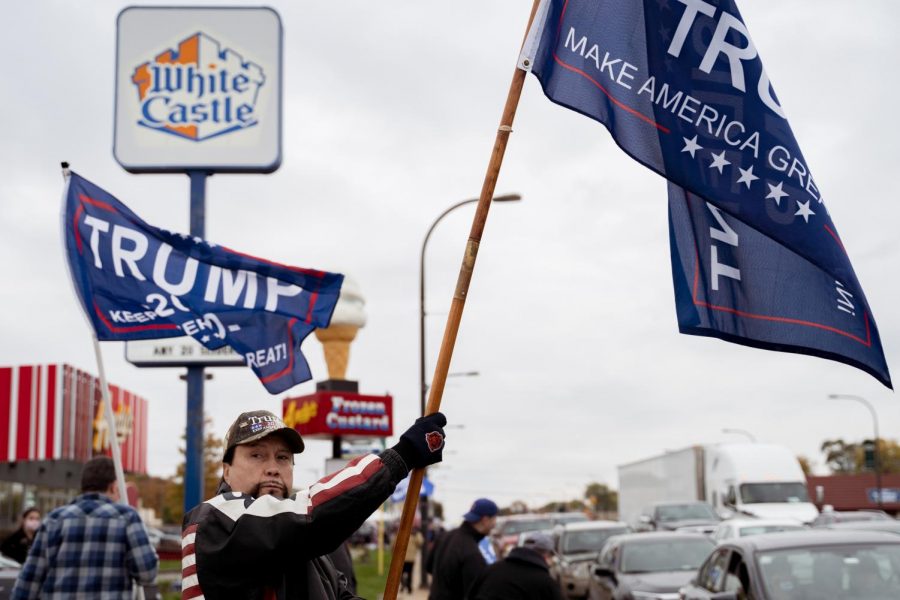
<svg viewBox="0 0 900 600"><path fill-rule="evenodd" d="M757 556L766 597L900 598L900 544L792 548Z"/></svg>

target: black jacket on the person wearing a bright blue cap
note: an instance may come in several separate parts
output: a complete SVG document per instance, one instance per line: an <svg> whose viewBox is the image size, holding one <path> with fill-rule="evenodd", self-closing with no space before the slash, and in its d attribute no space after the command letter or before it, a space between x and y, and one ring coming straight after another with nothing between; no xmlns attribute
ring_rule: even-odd
<svg viewBox="0 0 900 600"><path fill-rule="evenodd" d="M478 542L484 534L470 523L444 534L431 551L426 568L432 575L428 600L462 600L487 568Z"/></svg>

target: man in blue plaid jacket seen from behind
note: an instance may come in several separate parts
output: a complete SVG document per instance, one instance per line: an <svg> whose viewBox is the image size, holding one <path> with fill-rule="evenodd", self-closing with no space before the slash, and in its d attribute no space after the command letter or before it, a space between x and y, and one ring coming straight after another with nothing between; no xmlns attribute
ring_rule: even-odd
<svg viewBox="0 0 900 600"><path fill-rule="evenodd" d="M84 465L81 491L41 524L14 600L131 600L132 582L154 586L159 559L137 511L118 504L112 459L98 456Z"/></svg>

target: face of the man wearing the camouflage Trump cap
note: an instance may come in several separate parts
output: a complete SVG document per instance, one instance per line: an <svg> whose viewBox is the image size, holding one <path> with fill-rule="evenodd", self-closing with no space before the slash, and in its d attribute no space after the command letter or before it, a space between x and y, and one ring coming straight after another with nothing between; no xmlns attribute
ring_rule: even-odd
<svg viewBox="0 0 900 600"><path fill-rule="evenodd" d="M281 436L269 435L235 446L223 477L235 492L254 498L266 494L286 498L294 485L294 455Z"/></svg>

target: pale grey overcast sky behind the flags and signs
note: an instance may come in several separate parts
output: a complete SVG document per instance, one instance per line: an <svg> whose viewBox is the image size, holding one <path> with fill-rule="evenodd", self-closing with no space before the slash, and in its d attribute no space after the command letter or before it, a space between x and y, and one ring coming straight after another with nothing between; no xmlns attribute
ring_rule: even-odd
<svg viewBox="0 0 900 600"><path fill-rule="evenodd" d="M146 4L153 4L147 2ZM166 3L169 4L169 3ZM200 0L194 4L206 4ZM229 4L218 1L216 4ZM115 19L123 2L20 3L3 21L0 86L0 364L96 372L58 232L59 161L148 222L188 228L183 175L130 175L112 157ZM431 222L477 196L530 2L273 1L284 26L284 162L209 181L207 238L353 276L369 323L348 376L390 392L397 428L418 411L418 261ZM89 7L89 8L88 8ZM771 81L900 373L894 196L900 3L740 3ZM821 466L825 438L900 437L900 407L867 374L821 359L677 333L665 181L599 124L546 100L529 76L491 211L443 410L451 423L437 498L455 519L474 497L540 505L617 485L617 464L738 439L742 428ZM441 222L427 260L428 371L437 357L471 207ZM316 379L321 346L304 344ZM104 344L112 382L150 402L150 471L180 460L185 389ZM308 382L292 395L314 389ZM280 410L252 373L217 369L207 412L223 435L249 408ZM309 481L330 452L309 444Z"/></svg>

